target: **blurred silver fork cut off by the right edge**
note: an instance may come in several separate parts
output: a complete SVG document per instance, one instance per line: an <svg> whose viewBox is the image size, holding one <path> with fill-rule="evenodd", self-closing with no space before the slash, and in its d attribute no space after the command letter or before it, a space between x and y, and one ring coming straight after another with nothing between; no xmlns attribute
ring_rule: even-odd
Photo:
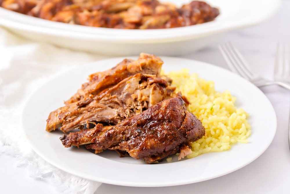
<svg viewBox="0 0 290 194"><path fill-rule="evenodd" d="M290 83L290 50L289 46L285 43L278 43L276 60L274 66L274 79L276 81L284 81ZM288 125L288 138L290 149L290 115Z"/></svg>

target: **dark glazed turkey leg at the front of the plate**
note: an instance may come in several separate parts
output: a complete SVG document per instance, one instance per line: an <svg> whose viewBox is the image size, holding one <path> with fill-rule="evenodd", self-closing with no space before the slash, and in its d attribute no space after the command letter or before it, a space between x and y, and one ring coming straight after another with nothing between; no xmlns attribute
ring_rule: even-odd
<svg viewBox="0 0 290 194"><path fill-rule="evenodd" d="M162 161L171 154L191 153L189 143L205 135L205 129L195 115L186 111L181 97L164 100L139 115L127 118L115 126L81 130L61 137L65 147L88 144L95 153L104 149L126 151L146 163Z"/></svg>

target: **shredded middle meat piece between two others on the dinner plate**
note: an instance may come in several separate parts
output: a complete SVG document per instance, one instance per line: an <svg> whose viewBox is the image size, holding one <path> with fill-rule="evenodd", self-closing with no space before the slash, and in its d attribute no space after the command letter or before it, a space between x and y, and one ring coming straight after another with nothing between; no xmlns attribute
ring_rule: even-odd
<svg viewBox="0 0 290 194"><path fill-rule="evenodd" d="M51 112L46 120L46 131L61 127L66 133L95 122L117 124L172 97L174 89L159 77L136 74L93 98L84 98Z"/></svg>

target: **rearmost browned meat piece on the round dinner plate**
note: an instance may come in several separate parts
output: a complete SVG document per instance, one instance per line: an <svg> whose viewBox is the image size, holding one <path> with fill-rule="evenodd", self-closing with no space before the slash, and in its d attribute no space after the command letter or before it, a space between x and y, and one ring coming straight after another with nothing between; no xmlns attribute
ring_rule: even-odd
<svg viewBox="0 0 290 194"><path fill-rule="evenodd" d="M89 82L84 83L82 88L66 101L65 104L77 102L89 95L96 95L102 90L116 85L123 79L138 73L158 76L162 64L163 61L160 58L146 53L141 53L137 60L124 59L110 70L91 74L88 78Z"/></svg>

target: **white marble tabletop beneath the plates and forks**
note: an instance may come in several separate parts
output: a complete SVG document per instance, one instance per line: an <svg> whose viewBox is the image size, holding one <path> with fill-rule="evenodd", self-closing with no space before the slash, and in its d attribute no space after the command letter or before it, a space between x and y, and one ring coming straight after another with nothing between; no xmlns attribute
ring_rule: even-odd
<svg viewBox="0 0 290 194"><path fill-rule="evenodd" d="M267 22L226 33L210 47L182 57L227 68L217 47L219 44L231 41L247 58L254 71L273 79L277 42L290 42L289 18L290 1L284 0L280 11ZM228 175L195 184L160 188L136 188L102 184L96 193L290 193L290 150L287 131L290 91L278 86L267 86L261 88L261 90L275 108L278 126L276 136L270 147L249 165ZM264 122L267 122L268 119L271 118L265 118ZM0 193L57 193L55 188L48 184L45 179L29 177L26 168L16 167L14 157L0 154L0 163ZM190 172L181 172L181 176L182 173ZM191 173L194 176L194 172Z"/></svg>

